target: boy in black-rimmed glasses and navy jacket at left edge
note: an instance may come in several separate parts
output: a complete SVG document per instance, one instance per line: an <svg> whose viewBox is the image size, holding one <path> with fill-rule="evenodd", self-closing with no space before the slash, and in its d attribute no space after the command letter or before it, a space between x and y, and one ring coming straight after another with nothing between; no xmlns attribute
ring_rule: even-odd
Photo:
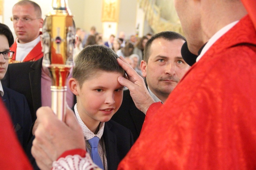
<svg viewBox="0 0 256 170"><path fill-rule="evenodd" d="M13 44L13 35L10 29L0 24L0 80L4 77L8 68L8 60L13 57L13 51L9 47ZM18 136L20 144L25 150L29 129L32 124L32 118L29 111L28 103L23 94L14 90L3 87L0 81L0 97L2 97L6 108L9 110L14 125L14 130ZM2 110L1 110L2 111Z"/></svg>

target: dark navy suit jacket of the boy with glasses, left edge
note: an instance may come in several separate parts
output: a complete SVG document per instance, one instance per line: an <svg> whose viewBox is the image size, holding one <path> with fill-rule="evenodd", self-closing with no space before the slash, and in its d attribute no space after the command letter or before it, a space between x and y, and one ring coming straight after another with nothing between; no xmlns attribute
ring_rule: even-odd
<svg viewBox="0 0 256 170"><path fill-rule="evenodd" d="M3 87L3 101L8 109L14 130L18 136L19 142L26 150L28 144L29 129L32 124L31 114L28 107L28 102L23 94L20 94L12 89Z"/></svg>

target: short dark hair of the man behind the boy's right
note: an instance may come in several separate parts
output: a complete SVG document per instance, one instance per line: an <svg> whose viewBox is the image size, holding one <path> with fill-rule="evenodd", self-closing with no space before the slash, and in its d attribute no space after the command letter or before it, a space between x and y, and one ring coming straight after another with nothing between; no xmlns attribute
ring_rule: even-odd
<svg viewBox="0 0 256 170"><path fill-rule="evenodd" d="M163 32L153 35L147 41L147 43L145 45L143 60L146 61L146 63L148 62L148 58L150 56L151 44L157 38L163 38L168 41L177 40L177 39L182 39L182 40L186 41L186 38L184 36L182 36L179 33L173 32L173 31L163 31Z"/></svg>

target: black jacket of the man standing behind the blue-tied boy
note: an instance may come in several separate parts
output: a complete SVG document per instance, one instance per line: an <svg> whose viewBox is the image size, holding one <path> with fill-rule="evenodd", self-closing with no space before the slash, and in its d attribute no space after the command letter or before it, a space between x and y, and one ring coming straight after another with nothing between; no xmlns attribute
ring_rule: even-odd
<svg viewBox="0 0 256 170"><path fill-rule="evenodd" d="M145 114L135 106L130 91L125 90L122 105L111 119L130 129L135 142L140 135Z"/></svg>

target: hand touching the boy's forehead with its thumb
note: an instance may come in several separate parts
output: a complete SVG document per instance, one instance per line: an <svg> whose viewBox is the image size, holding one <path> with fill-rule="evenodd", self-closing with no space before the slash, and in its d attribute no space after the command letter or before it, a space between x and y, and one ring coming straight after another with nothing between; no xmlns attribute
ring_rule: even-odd
<svg viewBox="0 0 256 170"><path fill-rule="evenodd" d="M117 59L118 64L126 71L129 80L124 77L118 77L118 81L130 90L130 95L136 107L146 114L148 107L155 103L149 94L143 78L120 56Z"/></svg>

